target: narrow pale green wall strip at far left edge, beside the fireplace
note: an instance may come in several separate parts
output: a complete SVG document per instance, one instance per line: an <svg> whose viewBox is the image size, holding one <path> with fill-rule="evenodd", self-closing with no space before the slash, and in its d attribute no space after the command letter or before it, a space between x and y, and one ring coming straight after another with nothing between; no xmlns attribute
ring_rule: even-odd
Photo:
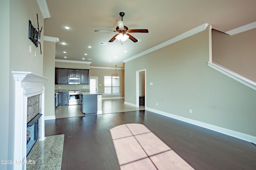
<svg viewBox="0 0 256 170"><path fill-rule="evenodd" d="M1 102L0 102L0 160L8 160L9 147L9 81L10 81L10 2L9 0L0 1L0 72L1 74ZM3 26L4 25L4 26ZM4 83L3 83L4 82ZM7 169L7 164L0 164L0 169Z"/></svg>

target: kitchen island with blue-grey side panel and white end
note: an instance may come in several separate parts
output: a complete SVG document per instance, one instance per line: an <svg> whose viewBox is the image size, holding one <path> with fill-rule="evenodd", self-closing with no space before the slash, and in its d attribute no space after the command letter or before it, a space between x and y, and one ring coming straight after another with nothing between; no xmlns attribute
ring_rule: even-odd
<svg viewBox="0 0 256 170"><path fill-rule="evenodd" d="M79 107L84 114L102 113L102 93L81 91Z"/></svg>

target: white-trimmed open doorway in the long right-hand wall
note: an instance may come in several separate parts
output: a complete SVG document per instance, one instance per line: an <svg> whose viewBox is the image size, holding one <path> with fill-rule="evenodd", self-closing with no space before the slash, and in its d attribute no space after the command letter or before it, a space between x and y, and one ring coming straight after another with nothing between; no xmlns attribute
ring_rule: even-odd
<svg viewBox="0 0 256 170"><path fill-rule="evenodd" d="M136 71L136 107L146 108L146 69Z"/></svg>

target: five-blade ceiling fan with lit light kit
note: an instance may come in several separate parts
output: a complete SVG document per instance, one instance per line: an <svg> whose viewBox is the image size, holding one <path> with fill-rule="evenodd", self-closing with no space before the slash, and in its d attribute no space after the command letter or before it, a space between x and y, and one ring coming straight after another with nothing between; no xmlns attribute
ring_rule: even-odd
<svg viewBox="0 0 256 170"><path fill-rule="evenodd" d="M116 20L117 27L116 30L95 30L95 32L118 32L112 39L108 42L113 42L115 39L118 39L121 43L126 41L127 39L132 40L134 43L138 42L138 39L134 38L132 35L128 33L148 33L148 29L128 29L123 23L124 12L120 12L119 15L122 17L122 21Z"/></svg>

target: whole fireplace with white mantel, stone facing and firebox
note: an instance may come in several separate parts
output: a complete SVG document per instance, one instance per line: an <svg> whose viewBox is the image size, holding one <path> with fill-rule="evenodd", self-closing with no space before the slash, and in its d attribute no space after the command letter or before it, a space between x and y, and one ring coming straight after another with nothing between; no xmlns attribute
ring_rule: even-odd
<svg viewBox="0 0 256 170"><path fill-rule="evenodd" d="M37 140L44 141L45 139L44 82L46 82L48 78L32 72L12 71L12 74L15 80L13 155L14 160L24 162L26 161L28 151L27 143L36 143ZM41 115L38 115L38 113ZM37 117L35 119L36 121L32 121L34 117ZM29 133L30 135L27 136ZM31 135L33 135L33 137ZM38 136L38 139L34 138L35 135ZM31 142L27 141L27 137L28 139L30 138ZM32 142L32 138L34 142ZM14 169L26 169L26 164L14 164Z"/></svg>

